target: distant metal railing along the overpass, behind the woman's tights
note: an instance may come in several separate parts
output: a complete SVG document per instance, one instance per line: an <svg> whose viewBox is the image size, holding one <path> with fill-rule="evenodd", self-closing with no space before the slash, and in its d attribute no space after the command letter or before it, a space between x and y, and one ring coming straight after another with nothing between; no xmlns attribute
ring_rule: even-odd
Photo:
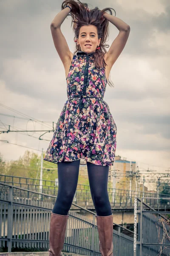
<svg viewBox="0 0 170 256"><path fill-rule="evenodd" d="M31 189L31 191L36 192L42 192L49 195L55 195L57 196L58 192L58 186L56 186L56 182L53 180L42 180L42 190L40 189L40 180L39 179L33 179L33 178L23 178L23 177L17 177L17 176L10 176L10 175L0 175L0 181L10 184L12 186L18 186L25 189ZM154 198L157 197L156 193L149 193L149 192L137 192L125 190L125 189L111 189L108 188L108 195L109 200L111 202L112 208L133 208L134 206L134 198L138 197L141 198L149 197ZM20 195L23 196L23 195ZM167 197L168 195L159 194L160 197ZM84 185L84 184L78 184L76 194L74 196L74 202L76 204L81 204L81 202L85 203L85 205L91 203L93 204L92 198L91 198L91 192L90 192L90 186ZM162 208L164 207L163 204L159 205L157 204L157 201L154 199L149 199L147 204L150 204L150 206L154 208Z"/></svg>

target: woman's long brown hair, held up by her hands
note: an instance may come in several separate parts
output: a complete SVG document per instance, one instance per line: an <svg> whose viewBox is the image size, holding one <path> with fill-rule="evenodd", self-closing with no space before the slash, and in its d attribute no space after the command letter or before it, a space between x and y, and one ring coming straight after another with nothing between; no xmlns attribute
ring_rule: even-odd
<svg viewBox="0 0 170 256"><path fill-rule="evenodd" d="M65 0L62 3L61 9L64 9L65 6L67 6L68 4L71 4L72 6L71 12L68 14L68 16L72 17L71 26L73 25L73 31L75 34L74 40L79 37L79 30L82 26L96 26L98 39L101 38L101 41L99 44L100 49L97 49L96 52L94 52L94 61L97 68L105 67L107 65L104 59L104 55L107 52L105 48L109 47L108 44L105 44L109 34L109 21L105 19L102 22L101 20L104 12L108 11L112 15L111 9L113 8L105 8L99 10L98 7L95 7L94 9L89 10L87 3L81 3L79 0ZM74 54L79 50L81 50L81 48L79 44L76 44L76 51L74 52ZM109 79L108 84L114 87L112 81L110 81Z"/></svg>

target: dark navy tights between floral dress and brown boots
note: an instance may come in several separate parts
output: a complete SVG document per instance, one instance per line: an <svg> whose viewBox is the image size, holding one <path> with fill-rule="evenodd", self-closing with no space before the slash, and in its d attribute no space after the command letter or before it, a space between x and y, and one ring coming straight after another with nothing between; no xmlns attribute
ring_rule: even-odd
<svg viewBox="0 0 170 256"><path fill-rule="evenodd" d="M68 215L77 189L80 160L58 162L59 189L52 212ZM96 214L108 216L112 214L108 198L109 166L98 166L87 162L88 179Z"/></svg>

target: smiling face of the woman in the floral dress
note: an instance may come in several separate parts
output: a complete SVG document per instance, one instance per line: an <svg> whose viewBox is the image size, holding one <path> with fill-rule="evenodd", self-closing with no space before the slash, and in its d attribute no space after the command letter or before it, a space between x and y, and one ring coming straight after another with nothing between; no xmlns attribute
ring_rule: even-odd
<svg viewBox="0 0 170 256"><path fill-rule="evenodd" d="M96 51L99 46L101 38L98 39L96 26L82 26L79 31L79 38L77 44L83 52L91 53ZM91 46L88 46L90 44ZM87 45L87 46L86 46Z"/></svg>

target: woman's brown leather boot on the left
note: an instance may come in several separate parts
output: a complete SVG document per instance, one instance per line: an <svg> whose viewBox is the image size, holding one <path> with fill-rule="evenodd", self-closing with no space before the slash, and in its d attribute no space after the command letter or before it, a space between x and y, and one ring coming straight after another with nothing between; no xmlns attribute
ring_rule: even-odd
<svg viewBox="0 0 170 256"><path fill-rule="evenodd" d="M51 212L49 256L61 256L68 216Z"/></svg>

